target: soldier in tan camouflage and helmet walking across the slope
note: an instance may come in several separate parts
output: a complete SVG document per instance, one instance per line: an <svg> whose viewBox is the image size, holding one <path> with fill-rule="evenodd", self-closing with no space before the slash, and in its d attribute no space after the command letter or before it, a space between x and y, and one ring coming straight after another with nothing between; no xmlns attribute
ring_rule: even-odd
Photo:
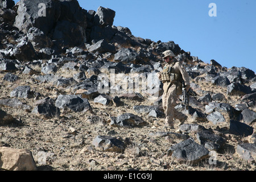
<svg viewBox="0 0 256 182"><path fill-rule="evenodd" d="M163 82L163 109L166 114L165 122L171 129L174 129L174 118L179 119L180 125L188 118L187 115L175 109L177 97L182 94L183 81L185 89L190 88L189 77L183 64L175 59L175 54L170 51L163 52L163 59L166 61L163 71L158 73L158 78Z"/></svg>

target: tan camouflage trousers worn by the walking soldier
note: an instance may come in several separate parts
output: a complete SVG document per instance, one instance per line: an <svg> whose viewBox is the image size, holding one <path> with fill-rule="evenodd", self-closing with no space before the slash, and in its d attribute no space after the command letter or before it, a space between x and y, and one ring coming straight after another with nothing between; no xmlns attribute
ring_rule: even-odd
<svg viewBox="0 0 256 182"><path fill-rule="evenodd" d="M179 119L179 121L184 121L187 116L175 109L176 101L177 101L177 94L176 94L176 85L171 85L168 89L167 93L163 93L162 102L163 102L163 109L164 113L166 114L165 121L169 125L174 124L174 118Z"/></svg>

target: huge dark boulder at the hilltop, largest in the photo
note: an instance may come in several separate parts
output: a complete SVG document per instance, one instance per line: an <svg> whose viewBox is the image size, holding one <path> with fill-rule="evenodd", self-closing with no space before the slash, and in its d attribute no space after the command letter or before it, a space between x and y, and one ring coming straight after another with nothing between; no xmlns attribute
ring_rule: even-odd
<svg viewBox="0 0 256 182"><path fill-rule="evenodd" d="M64 46L86 42L86 11L77 0L20 0L17 6L14 26L25 34L35 27Z"/></svg>

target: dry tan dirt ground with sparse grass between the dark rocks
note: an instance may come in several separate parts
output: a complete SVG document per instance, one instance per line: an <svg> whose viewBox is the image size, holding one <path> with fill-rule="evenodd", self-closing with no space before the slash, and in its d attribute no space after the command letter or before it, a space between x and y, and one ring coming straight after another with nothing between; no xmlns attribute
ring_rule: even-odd
<svg viewBox="0 0 256 182"><path fill-rule="evenodd" d="M0 73L0 80L6 73ZM44 97L56 98L60 92L69 94L65 89L48 89L51 83L41 83L34 80L34 76L22 75L15 72L22 79L17 82L2 82L0 99L9 98L10 92L16 86L30 85L31 90L39 92ZM191 80L193 81L193 80ZM214 92L226 93L225 88L220 88L207 82L197 82L202 90L214 90ZM67 92L66 92L67 91ZM200 96L200 95L199 95ZM201 95L202 96L202 95ZM226 96L228 98L228 96ZM18 98L24 104L34 108L36 100ZM224 150L217 153L217 164L209 164L209 160L202 160L197 164L177 163L171 156L167 156L167 150L172 144L179 140L168 140L165 137L150 137L151 132L157 131L177 131L164 127L164 119L139 115L147 126L124 128L112 127L109 125L109 116L118 116L122 113L135 113L134 105L149 105L147 100L143 102L122 100L125 105L120 107L104 106L95 104L89 100L93 113L65 113L53 119L42 119L30 110L15 109L12 107L2 107L1 109L14 118L20 119L23 126L0 126L0 146L12 148L28 149L32 152L36 166L39 170L53 171L81 171L81 170L110 170L125 171L127 169L139 169L144 171L164 171L164 170L185 170L185 171L233 171L249 170L255 171L255 164L243 160L236 153L237 144L246 142L249 138L237 137L225 132L229 128L229 119L226 123L214 126L211 122L196 122L205 128L217 130L222 129L222 136L226 138ZM230 97L228 103L232 106L240 103L240 97ZM138 114L137 114L138 115ZM101 123L90 123L92 117L98 116ZM105 123L105 124L104 124ZM188 118L186 123L195 123L192 118ZM256 128L254 122L251 126ZM114 132L113 132L114 130ZM122 139L129 138L133 143L125 151L102 152L94 148L92 141L98 135L112 135L112 137ZM189 134L196 140L196 134Z"/></svg>

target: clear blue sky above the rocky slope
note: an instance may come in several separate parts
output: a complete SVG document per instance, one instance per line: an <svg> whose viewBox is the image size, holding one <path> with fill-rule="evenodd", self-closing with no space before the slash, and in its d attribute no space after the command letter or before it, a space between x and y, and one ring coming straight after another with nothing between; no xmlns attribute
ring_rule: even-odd
<svg viewBox="0 0 256 182"><path fill-rule="evenodd" d="M246 67L256 73L255 0L78 0L85 10L115 11L114 26L155 42L170 40L205 63ZM16 2L16 1L15 1ZM215 3L217 16L209 16Z"/></svg>

